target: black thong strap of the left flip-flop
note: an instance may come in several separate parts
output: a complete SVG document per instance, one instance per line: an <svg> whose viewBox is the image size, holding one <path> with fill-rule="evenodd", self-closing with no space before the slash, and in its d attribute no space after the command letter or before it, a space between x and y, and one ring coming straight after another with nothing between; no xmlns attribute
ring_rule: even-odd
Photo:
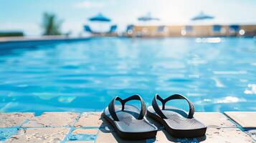
<svg viewBox="0 0 256 143"><path fill-rule="evenodd" d="M146 114L146 105L145 102L143 101L143 99L139 96L139 95L133 95L131 97L128 97L127 99L121 99L120 97L115 97L110 104L108 104L108 111L111 115L111 117L113 117L113 119L115 121L119 121L118 116L115 113L115 100L118 100L121 104L122 104L122 110L125 109L125 103L130 101L130 100L140 100L141 101L141 112L138 116L138 119L143 119L143 117Z"/></svg>

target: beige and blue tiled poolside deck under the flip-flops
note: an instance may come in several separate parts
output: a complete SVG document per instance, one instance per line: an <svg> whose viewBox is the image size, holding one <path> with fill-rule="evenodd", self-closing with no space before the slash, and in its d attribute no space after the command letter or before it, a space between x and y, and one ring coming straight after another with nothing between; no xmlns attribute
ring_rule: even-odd
<svg viewBox="0 0 256 143"><path fill-rule="evenodd" d="M35 117L33 113L0 113L0 142L128 142L100 114L45 112ZM194 117L207 124L205 137L176 139L149 119L159 128L156 139L133 142L255 142L256 112L196 112Z"/></svg>

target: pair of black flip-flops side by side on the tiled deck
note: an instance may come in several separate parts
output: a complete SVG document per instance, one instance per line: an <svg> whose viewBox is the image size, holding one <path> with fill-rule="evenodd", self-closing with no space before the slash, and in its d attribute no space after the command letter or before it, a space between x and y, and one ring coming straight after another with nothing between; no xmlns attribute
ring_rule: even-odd
<svg viewBox="0 0 256 143"><path fill-rule="evenodd" d="M172 99L185 99L189 103L189 114L182 109L166 106L166 102ZM131 104L125 104L131 100L139 100L141 109ZM162 106L158 105L159 100ZM116 105L115 101L121 104ZM194 105L186 97L174 94L162 99L158 94L153 98L152 106L146 109L143 99L139 95L133 95L127 99L115 97L103 111L103 117L114 127L118 136L123 139L150 139L156 137L157 127L146 119L145 115L163 124L166 131L173 137L202 137L207 127L194 119Z"/></svg>

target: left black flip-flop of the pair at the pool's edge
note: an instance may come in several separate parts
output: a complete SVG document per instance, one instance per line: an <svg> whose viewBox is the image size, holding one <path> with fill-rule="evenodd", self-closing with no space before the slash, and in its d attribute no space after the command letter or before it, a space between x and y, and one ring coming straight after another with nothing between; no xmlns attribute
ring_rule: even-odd
<svg viewBox="0 0 256 143"><path fill-rule="evenodd" d="M121 105L115 105L115 100ZM130 104L131 100L141 101L141 109ZM145 117L146 105L139 95L127 99L115 97L104 109L103 117L114 127L118 136L123 139L150 139L156 137L157 127L148 122Z"/></svg>

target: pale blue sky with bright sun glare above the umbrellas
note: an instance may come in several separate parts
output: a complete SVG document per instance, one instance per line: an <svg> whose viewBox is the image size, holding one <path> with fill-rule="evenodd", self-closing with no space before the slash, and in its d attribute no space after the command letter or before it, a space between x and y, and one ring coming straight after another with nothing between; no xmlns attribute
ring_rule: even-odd
<svg viewBox="0 0 256 143"><path fill-rule="evenodd" d="M138 16L151 13L160 21L150 24L256 24L255 0L0 0L0 31L24 31L27 36L42 34L42 14L57 14L62 31L80 34L82 25L97 25L87 18L99 12L118 24L141 24ZM200 11L214 16L195 23L190 19ZM143 24L143 23L142 23Z"/></svg>

